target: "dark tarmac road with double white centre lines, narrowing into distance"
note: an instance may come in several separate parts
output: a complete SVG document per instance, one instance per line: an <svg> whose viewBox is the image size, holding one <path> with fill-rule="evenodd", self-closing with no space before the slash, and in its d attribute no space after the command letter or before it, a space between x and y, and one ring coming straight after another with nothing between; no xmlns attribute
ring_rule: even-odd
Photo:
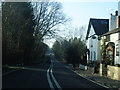
<svg viewBox="0 0 120 90"><path fill-rule="evenodd" d="M102 88L80 77L51 56L42 65L24 67L2 76L2 88Z"/></svg>

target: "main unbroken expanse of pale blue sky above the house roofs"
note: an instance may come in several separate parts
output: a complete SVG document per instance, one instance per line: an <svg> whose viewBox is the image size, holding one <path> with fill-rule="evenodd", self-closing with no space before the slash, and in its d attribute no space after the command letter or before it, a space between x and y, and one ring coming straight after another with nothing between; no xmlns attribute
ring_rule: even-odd
<svg viewBox="0 0 120 90"><path fill-rule="evenodd" d="M109 18L118 8L118 2L61 2L63 12L72 18L74 26L87 25L90 18Z"/></svg>

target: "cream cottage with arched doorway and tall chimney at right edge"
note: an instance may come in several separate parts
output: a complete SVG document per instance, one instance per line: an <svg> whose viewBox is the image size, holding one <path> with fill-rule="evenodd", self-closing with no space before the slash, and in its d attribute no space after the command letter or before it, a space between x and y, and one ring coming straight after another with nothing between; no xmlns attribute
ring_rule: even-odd
<svg viewBox="0 0 120 90"><path fill-rule="evenodd" d="M119 5L119 4L118 4ZM101 46L105 46L101 59L108 60L110 65L120 64L120 8L110 16L109 32L101 36ZM104 41L104 42L103 42ZM103 45L104 44L104 45ZM101 47L102 48L102 47Z"/></svg>

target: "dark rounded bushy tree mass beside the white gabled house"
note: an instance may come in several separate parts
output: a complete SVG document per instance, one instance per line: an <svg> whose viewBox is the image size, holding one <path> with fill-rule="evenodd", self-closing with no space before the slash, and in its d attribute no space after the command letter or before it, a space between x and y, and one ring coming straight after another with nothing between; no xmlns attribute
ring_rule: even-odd
<svg viewBox="0 0 120 90"><path fill-rule="evenodd" d="M69 41L63 40L61 42L56 41L53 45L53 51L59 59L64 59L67 63L71 64L85 64L86 61L83 58L86 56L85 42L80 38L71 38Z"/></svg>

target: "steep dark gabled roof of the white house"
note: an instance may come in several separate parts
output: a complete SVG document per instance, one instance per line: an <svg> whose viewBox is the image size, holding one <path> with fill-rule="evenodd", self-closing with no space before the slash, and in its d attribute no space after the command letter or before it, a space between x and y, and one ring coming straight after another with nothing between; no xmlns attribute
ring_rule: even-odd
<svg viewBox="0 0 120 90"><path fill-rule="evenodd" d="M91 25L94 28L95 35L102 35L109 31L109 19L90 18L86 39L88 39Z"/></svg>

